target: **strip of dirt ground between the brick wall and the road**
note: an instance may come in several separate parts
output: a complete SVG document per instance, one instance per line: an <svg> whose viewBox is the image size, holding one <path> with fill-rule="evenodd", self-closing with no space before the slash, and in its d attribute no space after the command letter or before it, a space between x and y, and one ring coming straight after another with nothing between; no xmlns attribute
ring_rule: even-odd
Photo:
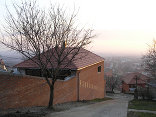
<svg viewBox="0 0 156 117"><path fill-rule="evenodd" d="M56 104L53 110L43 106L8 109L6 111L0 111L0 117L43 117L49 113L65 111L75 107L90 105L90 104L94 104L97 102L106 101L110 99L111 98L102 98L102 99L94 99L94 100L82 100L79 102L66 102L66 103Z"/></svg>

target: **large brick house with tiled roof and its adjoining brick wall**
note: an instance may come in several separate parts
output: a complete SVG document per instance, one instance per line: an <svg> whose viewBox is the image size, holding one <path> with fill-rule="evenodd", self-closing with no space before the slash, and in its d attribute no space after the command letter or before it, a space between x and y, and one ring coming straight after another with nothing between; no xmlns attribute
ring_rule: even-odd
<svg viewBox="0 0 156 117"><path fill-rule="evenodd" d="M104 59L86 49L86 56L66 67L54 85L54 104L103 98L105 96ZM81 56L78 55L78 57ZM15 67L25 75L0 75L0 109L47 106L49 87L31 60ZM9 84L9 85L8 85Z"/></svg>

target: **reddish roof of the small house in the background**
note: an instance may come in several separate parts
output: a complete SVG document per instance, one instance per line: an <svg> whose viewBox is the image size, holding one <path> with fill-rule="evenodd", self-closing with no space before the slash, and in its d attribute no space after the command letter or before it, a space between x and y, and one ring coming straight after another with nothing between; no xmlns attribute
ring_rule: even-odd
<svg viewBox="0 0 156 117"><path fill-rule="evenodd" d="M136 76L138 77L138 80L137 80L138 84L145 84L150 79L149 77L141 73L134 72L134 73L126 74L122 78L122 81L124 81L126 84L136 84Z"/></svg>

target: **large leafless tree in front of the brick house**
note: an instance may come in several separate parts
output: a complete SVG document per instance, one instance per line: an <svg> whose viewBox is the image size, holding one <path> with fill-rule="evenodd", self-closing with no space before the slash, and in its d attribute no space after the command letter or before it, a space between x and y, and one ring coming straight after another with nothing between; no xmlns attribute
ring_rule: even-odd
<svg viewBox="0 0 156 117"><path fill-rule="evenodd" d="M62 69L79 59L81 48L90 44L92 30L78 29L74 25L76 14L67 15L61 7L51 5L45 12L34 1L13 6L16 15L8 10L5 26L8 36L3 36L1 43L41 70L50 88L48 107L53 108L54 84Z"/></svg>

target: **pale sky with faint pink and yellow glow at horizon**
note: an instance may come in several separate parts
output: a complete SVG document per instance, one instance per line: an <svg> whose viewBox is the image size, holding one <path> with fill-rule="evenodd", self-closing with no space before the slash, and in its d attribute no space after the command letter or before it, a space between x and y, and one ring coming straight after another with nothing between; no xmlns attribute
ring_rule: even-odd
<svg viewBox="0 0 156 117"><path fill-rule="evenodd" d="M102 56L142 56L147 44L156 38L156 0L37 1L45 9L50 3L64 5L69 11L77 9L79 25L94 29L96 34L89 50ZM6 14L5 4L12 9L13 2L20 0L0 0L1 23Z"/></svg>

